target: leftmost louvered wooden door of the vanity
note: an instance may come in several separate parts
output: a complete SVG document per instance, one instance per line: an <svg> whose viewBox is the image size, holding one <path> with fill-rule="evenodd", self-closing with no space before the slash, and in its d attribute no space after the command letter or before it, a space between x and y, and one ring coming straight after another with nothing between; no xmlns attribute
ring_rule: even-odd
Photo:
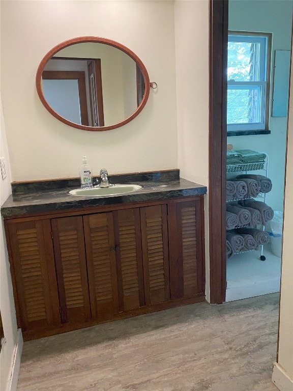
<svg viewBox="0 0 293 391"><path fill-rule="evenodd" d="M61 324L50 220L6 222L14 296L23 331Z"/></svg>

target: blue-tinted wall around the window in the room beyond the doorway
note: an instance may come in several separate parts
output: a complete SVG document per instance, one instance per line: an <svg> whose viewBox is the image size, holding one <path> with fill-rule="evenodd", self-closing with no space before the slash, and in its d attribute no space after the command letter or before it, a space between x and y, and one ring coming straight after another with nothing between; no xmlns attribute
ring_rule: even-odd
<svg viewBox="0 0 293 391"><path fill-rule="evenodd" d="M275 50L291 48L292 4L291 0L229 0L229 30L273 33L273 65ZM271 96L272 91L271 88ZM274 210L283 210L287 118L270 117L269 122L271 134L227 137L227 143L234 149L253 149L269 155L273 189L266 202Z"/></svg>

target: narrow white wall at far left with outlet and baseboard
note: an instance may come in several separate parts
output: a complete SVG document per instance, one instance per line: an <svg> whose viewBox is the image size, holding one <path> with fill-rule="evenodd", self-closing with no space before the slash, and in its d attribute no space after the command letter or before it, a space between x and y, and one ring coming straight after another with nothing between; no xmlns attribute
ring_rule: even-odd
<svg viewBox="0 0 293 391"><path fill-rule="evenodd" d="M1 128L0 128L0 156L5 158L7 177L2 180L0 176L0 204L11 193L9 154L5 134L5 125L2 115L1 102ZM17 331L15 306L12 293L11 275L4 234L3 220L0 224L0 311L3 322L6 344L0 353L0 388L1 391L16 390L16 380L19 371L19 362L22 349L22 337Z"/></svg>

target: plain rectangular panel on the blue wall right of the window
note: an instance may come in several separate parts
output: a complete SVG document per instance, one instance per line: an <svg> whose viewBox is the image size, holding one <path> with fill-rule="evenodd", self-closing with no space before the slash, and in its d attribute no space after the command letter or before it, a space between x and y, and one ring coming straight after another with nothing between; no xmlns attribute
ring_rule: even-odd
<svg viewBox="0 0 293 391"><path fill-rule="evenodd" d="M290 50L275 50L272 117L288 114L290 56Z"/></svg>

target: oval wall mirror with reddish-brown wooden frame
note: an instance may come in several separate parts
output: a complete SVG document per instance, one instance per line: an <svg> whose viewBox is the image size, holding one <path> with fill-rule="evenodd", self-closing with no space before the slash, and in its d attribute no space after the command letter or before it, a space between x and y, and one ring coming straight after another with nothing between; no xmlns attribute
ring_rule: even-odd
<svg viewBox="0 0 293 391"><path fill-rule="evenodd" d="M126 46L79 37L53 47L36 75L38 95L58 120L78 129L103 131L133 120L150 94L148 71Z"/></svg>

